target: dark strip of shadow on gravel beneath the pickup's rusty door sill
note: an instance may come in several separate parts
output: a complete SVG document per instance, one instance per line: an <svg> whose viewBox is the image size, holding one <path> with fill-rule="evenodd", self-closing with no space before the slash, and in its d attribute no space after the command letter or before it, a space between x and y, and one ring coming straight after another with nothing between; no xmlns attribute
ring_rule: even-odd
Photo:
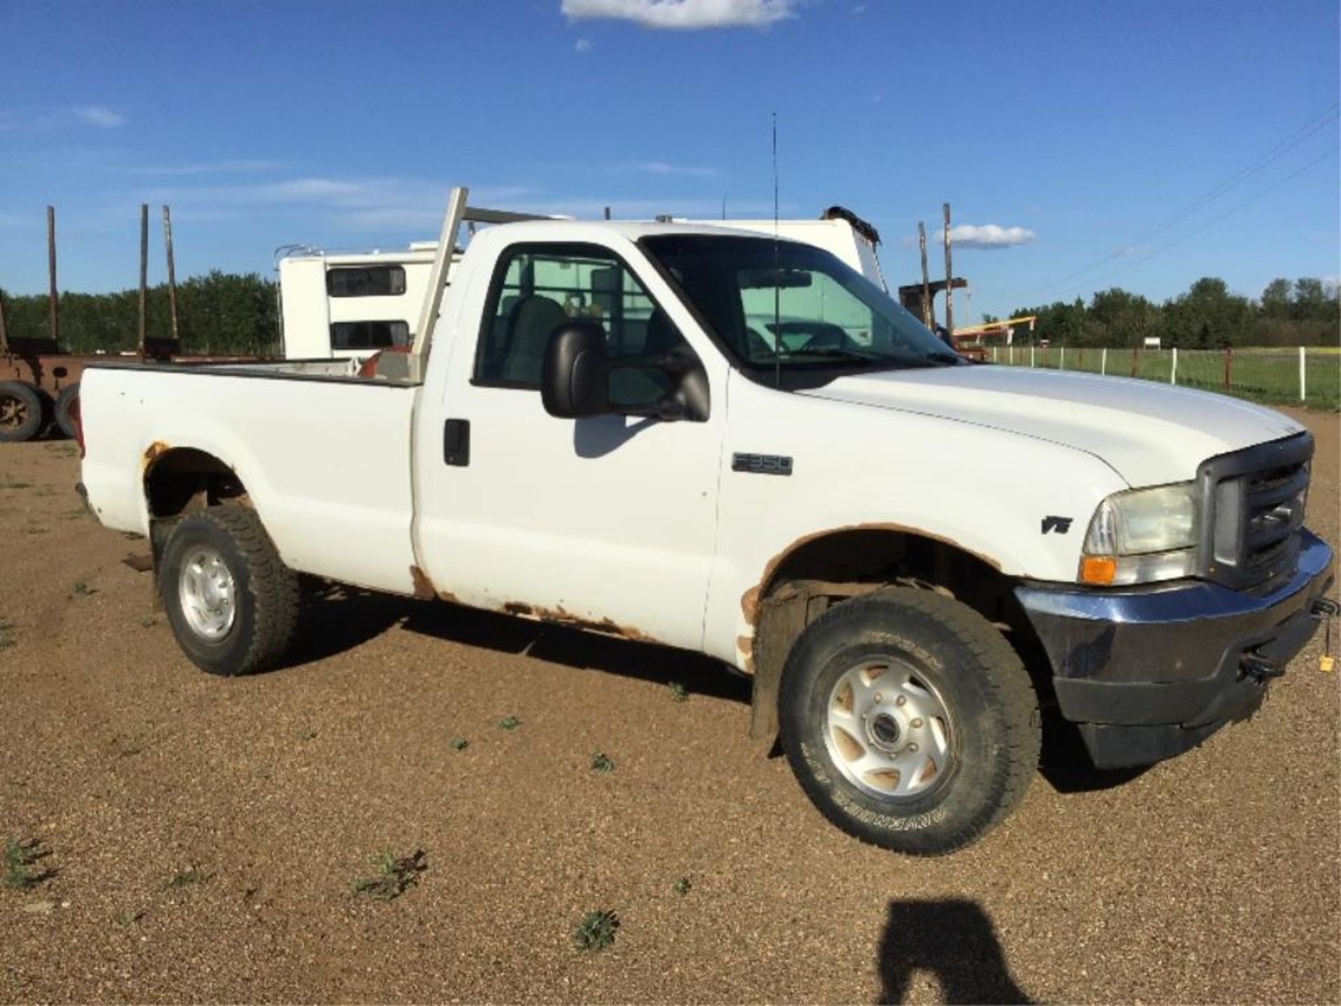
<svg viewBox="0 0 1341 1006"><path fill-rule="evenodd" d="M401 628L421 636L520 653L566 667L602 671L641 681L679 683L692 695L750 704L750 681L720 660L654 642L534 622L448 602L416 604Z"/></svg>

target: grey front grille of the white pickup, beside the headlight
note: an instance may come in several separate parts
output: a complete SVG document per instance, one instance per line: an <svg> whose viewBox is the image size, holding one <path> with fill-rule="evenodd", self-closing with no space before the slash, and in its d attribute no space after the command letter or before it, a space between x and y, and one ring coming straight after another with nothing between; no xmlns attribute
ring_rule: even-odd
<svg viewBox="0 0 1341 1006"><path fill-rule="evenodd" d="M1294 574L1311 457L1311 435L1298 433L1202 464L1200 565L1207 579L1251 590Z"/></svg>

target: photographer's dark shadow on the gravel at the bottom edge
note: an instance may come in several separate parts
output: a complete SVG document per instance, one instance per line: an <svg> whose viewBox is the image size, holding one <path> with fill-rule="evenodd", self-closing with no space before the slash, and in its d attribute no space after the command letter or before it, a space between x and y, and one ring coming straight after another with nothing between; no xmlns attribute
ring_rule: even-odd
<svg viewBox="0 0 1341 1006"><path fill-rule="evenodd" d="M945 1002L1033 1002L1011 978L995 927L976 901L890 901L878 967L881 1003L904 1002L920 971L936 976Z"/></svg>

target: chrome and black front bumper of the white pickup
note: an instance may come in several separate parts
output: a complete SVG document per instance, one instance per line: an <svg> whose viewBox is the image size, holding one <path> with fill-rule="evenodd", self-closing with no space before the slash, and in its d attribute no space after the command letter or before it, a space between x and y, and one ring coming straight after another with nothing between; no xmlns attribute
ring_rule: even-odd
<svg viewBox="0 0 1341 1006"><path fill-rule="evenodd" d="M1289 582L1252 596L1196 582L1129 590L1019 586L1062 715L1101 769L1149 765L1250 716L1320 624L1332 549L1299 531Z"/></svg>

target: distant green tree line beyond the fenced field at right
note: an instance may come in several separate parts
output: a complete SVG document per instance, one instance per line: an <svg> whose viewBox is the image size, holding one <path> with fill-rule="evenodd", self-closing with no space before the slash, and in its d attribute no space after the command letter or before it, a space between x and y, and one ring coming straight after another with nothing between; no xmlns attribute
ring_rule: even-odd
<svg viewBox="0 0 1341 1006"><path fill-rule="evenodd" d="M1011 317L1037 315L1034 338L1063 346L1336 346L1341 326L1337 290L1321 279L1273 279L1262 298L1231 294L1223 279L1204 276L1185 292L1155 303L1120 287L1096 292L1089 303L1019 307ZM983 321L1000 321L984 315Z"/></svg>

